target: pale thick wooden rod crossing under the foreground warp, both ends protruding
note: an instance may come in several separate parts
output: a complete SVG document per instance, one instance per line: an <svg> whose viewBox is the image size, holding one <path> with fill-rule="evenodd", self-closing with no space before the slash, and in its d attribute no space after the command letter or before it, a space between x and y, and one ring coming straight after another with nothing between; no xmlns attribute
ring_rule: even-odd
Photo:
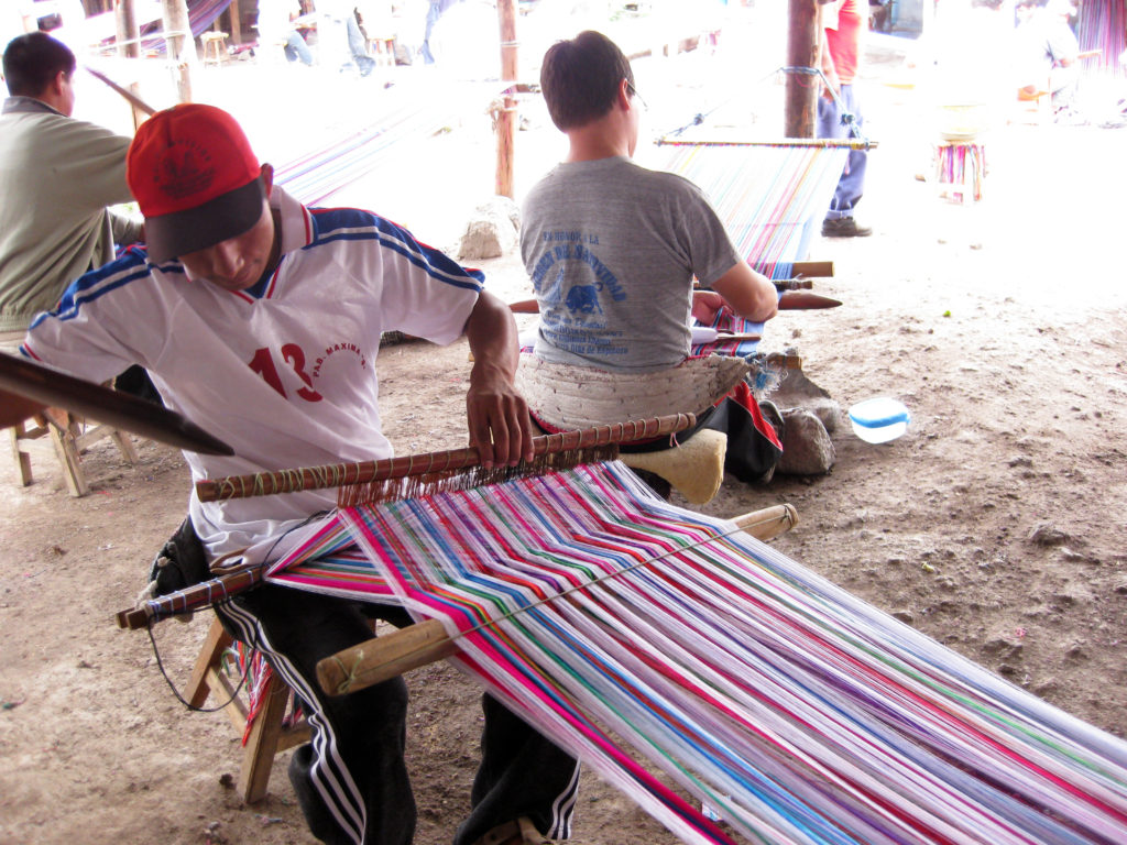
<svg viewBox="0 0 1127 845"><path fill-rule="evenodd" d="M793 528L798 512L793 505L775 505L737 516L731 522L753 537L766 541ZM584 586L594 584L597 581ZM317 681L329 695L344 695L456 653L456 638L447 635L438 620L426 620L320 660Z"/></svg>

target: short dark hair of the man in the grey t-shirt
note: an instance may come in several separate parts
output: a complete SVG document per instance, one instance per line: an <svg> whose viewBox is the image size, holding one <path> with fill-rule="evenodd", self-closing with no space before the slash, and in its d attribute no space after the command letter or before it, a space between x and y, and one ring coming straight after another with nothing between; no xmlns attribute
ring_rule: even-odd
<svg viewBox="0 0 1127 845"><path fill-rule="evenodd" d="M540 66L548 113L564 132L610 112L623 79L632 90L630 61L614 42L591 29L552 44Z"/></svg>

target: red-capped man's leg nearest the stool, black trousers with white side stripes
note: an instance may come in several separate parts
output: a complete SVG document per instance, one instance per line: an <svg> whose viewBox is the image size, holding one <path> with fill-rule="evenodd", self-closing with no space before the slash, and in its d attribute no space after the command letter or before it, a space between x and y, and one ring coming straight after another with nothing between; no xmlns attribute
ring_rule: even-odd
<svg viewBox="0 0 1127 845"><path fill-rule="evenodd" d="M264 653L307 711L313 736L294 751L290 780L312 834L330 845L410 845L416 808L406 746L402 678L329 696L318 660L372 637L352 603L263 586L216 608L228 630Z"/></svg>

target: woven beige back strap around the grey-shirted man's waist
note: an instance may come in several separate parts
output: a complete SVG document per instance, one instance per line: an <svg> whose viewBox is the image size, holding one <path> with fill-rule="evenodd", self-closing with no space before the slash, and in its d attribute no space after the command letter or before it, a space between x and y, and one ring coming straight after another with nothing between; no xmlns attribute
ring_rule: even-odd
<svg viewBox="0 0 1127 845"><path fill-rule="evenodd" d="M567 430L667 413L701 413L749 371L744 358L720 355L686 358L656 373L611 373L522 355L516 386L541 420Z"/></svg>

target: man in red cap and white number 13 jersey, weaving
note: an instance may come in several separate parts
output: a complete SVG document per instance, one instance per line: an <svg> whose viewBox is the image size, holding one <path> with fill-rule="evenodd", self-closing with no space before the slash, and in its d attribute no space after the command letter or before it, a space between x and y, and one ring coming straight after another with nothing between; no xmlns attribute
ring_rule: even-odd
<svg viewBox="0 0 1127 845"><path fill-rule="evenodd" d="M193 480L390 456L375 372L385 330L438 344L464 333L474 362L471 445L485 466L532 457L526 406L513 388L516 327L480 273L370 212L304 207L211 106L177 106L144 123L127 178L148 246L78 279L34 321L21 352L95 382L145 366L168 406L234 448L233 457L186 453ZM0 417L28 410L0 400ZM198 536L208 561L248 548L261 559L334 505L323 491L223 504L193 493L180 548ZM313 835L408 845L416 809L403 762L406 685L396 678L329 697L314 678L319 659L371 638L369 620L345 601L276 586L216 612L308 709L312 741L295 751L290 776ZM482 765L455 845L566 837L576 762L491 697L483 706Z"/></svg>

